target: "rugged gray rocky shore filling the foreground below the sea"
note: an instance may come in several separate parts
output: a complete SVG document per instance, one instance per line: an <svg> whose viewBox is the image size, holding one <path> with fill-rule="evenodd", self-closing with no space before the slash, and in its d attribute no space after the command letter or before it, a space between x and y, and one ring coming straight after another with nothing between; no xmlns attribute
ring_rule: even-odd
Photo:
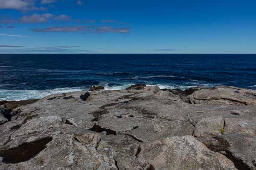
<svg viewBox="0 0 256 170"><path fill-rule="evenodd" d="M91 90L0 102L0 170L256 170L256 91Z"/></svg>

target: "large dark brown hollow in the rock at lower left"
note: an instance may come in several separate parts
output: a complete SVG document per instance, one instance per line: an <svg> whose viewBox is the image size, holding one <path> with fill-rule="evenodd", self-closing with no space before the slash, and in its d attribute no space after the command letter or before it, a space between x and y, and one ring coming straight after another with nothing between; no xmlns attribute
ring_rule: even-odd
<svg viewBox="0 0 256 170"><path fill-rule="evenodd" d="M52 141L52 137L40 139L35 142L23 143L15 148L0 150L0 157L6 164L17 164L20 162L28 161L34 158L47 146L46 144Z"/></svg>

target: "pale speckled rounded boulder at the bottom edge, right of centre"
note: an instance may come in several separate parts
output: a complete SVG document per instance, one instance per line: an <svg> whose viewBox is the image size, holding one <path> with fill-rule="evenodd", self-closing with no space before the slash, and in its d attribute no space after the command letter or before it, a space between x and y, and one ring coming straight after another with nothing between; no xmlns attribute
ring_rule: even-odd
<svg viewBox="0 0 256 170"><path fill-rule="evenodd" d="M138 160L147 170L236 170L233 162L192 136L142 144Z"/></svg>

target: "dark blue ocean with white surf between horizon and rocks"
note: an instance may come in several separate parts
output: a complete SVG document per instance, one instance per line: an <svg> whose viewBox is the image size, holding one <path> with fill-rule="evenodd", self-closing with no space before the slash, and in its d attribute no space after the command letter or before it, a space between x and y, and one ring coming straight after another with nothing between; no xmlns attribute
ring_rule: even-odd
<svg viewBox="0 0 256 170"><path fill-rule="evenodd" d="M134 83L256 89L255 54L0 54L0 100Z"/></svg>

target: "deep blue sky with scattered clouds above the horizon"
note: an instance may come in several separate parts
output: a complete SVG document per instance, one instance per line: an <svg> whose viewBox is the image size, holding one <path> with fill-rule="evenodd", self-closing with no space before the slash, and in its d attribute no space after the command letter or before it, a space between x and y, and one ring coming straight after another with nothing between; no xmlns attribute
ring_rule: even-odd
<svg viewBox="0 0 256 170"><path fill-rule="evenodd" d="M0 0L0 54L256 54L256 1Z"/></svg>

